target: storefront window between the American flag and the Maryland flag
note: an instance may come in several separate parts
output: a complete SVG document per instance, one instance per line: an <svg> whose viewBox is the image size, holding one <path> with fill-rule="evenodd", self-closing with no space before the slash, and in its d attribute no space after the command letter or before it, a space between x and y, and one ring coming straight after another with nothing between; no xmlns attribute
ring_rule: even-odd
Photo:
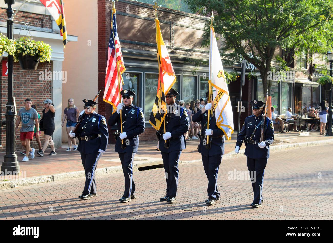
<svg viewBox="0 0 333 243"><path fill-rule="evenodd" d="M145 121L149 121L156 100L158 73L146 73L145 80Z"/></svg>

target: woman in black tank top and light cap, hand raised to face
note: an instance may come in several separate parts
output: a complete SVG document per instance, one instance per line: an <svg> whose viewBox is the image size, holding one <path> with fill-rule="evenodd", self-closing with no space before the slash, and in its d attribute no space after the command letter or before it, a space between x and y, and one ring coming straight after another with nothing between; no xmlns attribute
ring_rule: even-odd
<svg viewBox="0 0 333 243"><path fill-rule="evenodd" d="M54 105L52 103L52 100L46 99L43 101L45 108L42 111L42 129L45 134L45 141L44 141L44 146L42 151L38 151L37 153L40 156L44 156L44 152L47 149L47 147L50 145L51 146L51 153L49 155L56 155L56 149L54 148L54 142L52 140L52 134L55 129L55 124L54 124L54 116L56 113L56 109L54 108Z"/></svg>

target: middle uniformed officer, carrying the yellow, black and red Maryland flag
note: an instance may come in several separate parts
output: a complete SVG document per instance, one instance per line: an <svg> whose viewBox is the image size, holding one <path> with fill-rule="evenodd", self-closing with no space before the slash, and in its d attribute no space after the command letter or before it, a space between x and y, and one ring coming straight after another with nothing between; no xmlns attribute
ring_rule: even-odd
<svg viewBox="0 0 333 243"><path fill-rule="evenodd" d="M174 203L177 196L178 183L178 161L181 150L185 149L186 141L184 133L188 131L188 115L186 109L176 105L176 96L179 95L174 89L170 89L166 94L167 114L166 133L164 125L160 128L159 149L161 150L164 170L166 175L166 196L160 201ZM165 140L169 147L166 148Z"/></svg>

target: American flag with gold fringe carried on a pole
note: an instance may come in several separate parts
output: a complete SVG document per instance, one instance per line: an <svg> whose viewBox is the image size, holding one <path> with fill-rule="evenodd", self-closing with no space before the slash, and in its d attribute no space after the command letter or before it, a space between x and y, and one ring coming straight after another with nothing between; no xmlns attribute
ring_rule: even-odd
<svg viewBox="0 0 333 243"><path fill-rule="evenodd" d="M105 89L103 98L105 102L113 105L113 112L115 112L117 106L121 102L119 100L119 85L120 90L123 90L123 81L120 82L120 80L122 80L121 74L125 72L125 65L117 33L116 9L113 9L111 19L112 26L111 35L109 38L108 62L105 74ZM118 66L120 75L118 72Z"/></svg>

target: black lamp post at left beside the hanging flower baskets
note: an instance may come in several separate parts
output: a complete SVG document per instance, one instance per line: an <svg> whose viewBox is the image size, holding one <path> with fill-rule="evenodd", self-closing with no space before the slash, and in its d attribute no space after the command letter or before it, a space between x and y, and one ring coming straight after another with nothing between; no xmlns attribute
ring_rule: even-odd
<svg viewBox="0 0 333 243"><path fill-rule="evenodd" d="M13 8L12 4L15 0L5 0L8 5L7 8L7 37L13 39ZM13 97L13 56L8 54L8 102L6 104L6 154L2 162L0 171L4 174L16 175L20 172L20 166L17 162L17 155L15 153L15 117L16 106Z"/></svg>

